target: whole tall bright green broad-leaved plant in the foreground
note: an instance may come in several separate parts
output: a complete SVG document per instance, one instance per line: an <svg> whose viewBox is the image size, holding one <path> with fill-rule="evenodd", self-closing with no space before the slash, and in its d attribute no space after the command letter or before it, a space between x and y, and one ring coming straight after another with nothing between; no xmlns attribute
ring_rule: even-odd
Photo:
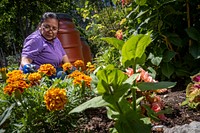
<svg viewBox="0 0 200 133"><path fill-rule="evenodd" d="M110 41L112 40L110 38L104 40L108 40L114 46L121 45L121 43L118 43L119 41ZM117 46L122 53L122 64L125 67L131 66L134 72L136 72L136 65L145 62L145 49L150 42L150 34L139 34L131 36L122 47ZM91 107L105 106L108 111L108 117L115 121L115 128L120 133L147 133L151 130L149 117L141 113L140 103L144 97L138 97L137 90L143 92L170 88L175 85L172 82L137 83L138 73L134 73L128 78L123 71L114 68L113 65L108 65L106 68L99 70L96 76L98 79L97 92L99 96L74 108L69 113L81 112ZM131 102L128 102L126 99L129 94L131 94ZM146 110L149 116L156 114L151 113L148 107L146 107Z"/></svg>

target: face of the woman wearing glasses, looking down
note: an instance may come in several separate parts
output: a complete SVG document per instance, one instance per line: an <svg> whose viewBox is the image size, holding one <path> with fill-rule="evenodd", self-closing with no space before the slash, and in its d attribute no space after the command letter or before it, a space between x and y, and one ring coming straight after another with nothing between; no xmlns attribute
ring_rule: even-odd
<svg viewBox="0 0 200 133"><path fill-rule="evenodd" d="M40 25L39 29L46 40L52 41L56 38L58 33L58 20L48 18Z"/></svg>

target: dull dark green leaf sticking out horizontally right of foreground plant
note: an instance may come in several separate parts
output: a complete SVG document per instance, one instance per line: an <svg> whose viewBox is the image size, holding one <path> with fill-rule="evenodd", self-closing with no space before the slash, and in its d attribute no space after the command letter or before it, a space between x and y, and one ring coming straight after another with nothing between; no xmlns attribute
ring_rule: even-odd
<svg viewBox="0 0 200 133"><path fill-rule="evenodd" d="M141 82L138 83L138 88L141 91L145 90L157 90L157 89L163 89L163 88L172 88L176 85L176 82L167 82L167 81L162 81L162 82Z"/></svg>

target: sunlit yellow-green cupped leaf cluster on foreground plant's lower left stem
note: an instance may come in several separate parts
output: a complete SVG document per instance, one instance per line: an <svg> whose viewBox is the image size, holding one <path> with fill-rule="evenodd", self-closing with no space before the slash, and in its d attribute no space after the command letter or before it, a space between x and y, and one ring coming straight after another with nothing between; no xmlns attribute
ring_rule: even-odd
<svg viewBox="0 0 200 133"><path fill-rule="evenodd" d="M112 67L99 70L97 73L99 80L97 91L103 95L106 102L114 105L131 87L132 83L127 83L128 76L124 72L116 68L112 70L110 68Z"/></svg>

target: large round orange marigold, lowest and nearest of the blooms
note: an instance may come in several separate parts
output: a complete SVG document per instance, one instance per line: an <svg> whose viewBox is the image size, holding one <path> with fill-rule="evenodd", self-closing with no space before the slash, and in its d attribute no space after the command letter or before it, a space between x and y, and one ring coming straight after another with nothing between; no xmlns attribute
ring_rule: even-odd
<svg viewBox="0 0 200 133"><path fill-rule="evenodd" d="M67 103L66 90L52 88L44 95L44 102L48 110L62 110Z"/></svg>

